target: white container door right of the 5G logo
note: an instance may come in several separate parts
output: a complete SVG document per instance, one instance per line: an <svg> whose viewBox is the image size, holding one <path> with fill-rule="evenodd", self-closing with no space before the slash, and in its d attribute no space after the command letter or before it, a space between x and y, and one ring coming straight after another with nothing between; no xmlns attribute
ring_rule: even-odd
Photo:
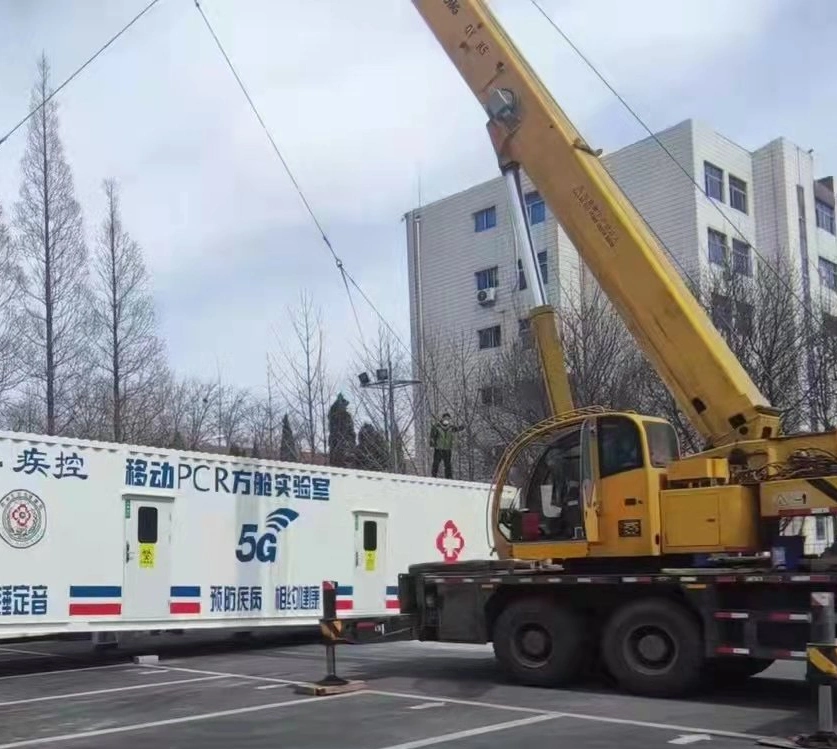
<svg viewBox="0 0 837 749"><path fill-rule="evenodd" d="M354 612L386 612L386 565L387 516L377 512L356 512Z"/></svg>

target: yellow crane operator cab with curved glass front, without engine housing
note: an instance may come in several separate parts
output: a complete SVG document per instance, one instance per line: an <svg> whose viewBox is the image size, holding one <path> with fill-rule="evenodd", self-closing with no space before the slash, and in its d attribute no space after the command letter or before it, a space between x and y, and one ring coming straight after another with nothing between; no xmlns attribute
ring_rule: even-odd
<svg viewBox="0 0 837 749"><path fill-rule="evenodd" d="M660 554L660 489L666 467L679 457L670 424L602 412L562 420L539 437L517 507L497 524L511 556Z"/></svg>

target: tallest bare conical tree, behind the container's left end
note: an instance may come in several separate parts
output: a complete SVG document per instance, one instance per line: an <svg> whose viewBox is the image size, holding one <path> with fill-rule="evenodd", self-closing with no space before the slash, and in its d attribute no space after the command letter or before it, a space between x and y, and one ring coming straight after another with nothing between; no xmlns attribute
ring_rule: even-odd
<svg viewBox="0 0 837 749"><path fill-rule="evenodd" d="M81 208L58 133L58 104L44 104L50 93L49 63L42 56L30 104L43 106L28 125L15 228L27 271L23 360L42 388L46 431L55 434L68 426L91 327Z"/></svg>

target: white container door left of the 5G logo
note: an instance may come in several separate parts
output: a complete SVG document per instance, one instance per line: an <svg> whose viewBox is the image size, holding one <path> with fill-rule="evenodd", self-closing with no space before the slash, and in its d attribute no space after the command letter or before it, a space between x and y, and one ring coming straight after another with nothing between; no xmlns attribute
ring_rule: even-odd
<svg viewBox="0 0 837 749"><path fill-rule="evenodd" d="M125 499L126 619L167 619L171 585L172 500L159 497Z"/></svg>

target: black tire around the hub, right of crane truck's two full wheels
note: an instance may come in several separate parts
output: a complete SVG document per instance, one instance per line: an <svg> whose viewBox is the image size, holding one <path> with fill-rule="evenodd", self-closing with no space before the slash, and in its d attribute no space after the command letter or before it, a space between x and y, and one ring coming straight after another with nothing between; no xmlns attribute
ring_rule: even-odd
<svg viewBox="0 0 837 749"><path fill-rule="evenodd" d="M638 626L661 627L677 645L668 670L647 674L626 659L623 643ZM645 697L675 697L697 688L705 673L703 637L689 612L663 598L635 601L617 609L602 634L602 657L621 689Z"/></svg>

